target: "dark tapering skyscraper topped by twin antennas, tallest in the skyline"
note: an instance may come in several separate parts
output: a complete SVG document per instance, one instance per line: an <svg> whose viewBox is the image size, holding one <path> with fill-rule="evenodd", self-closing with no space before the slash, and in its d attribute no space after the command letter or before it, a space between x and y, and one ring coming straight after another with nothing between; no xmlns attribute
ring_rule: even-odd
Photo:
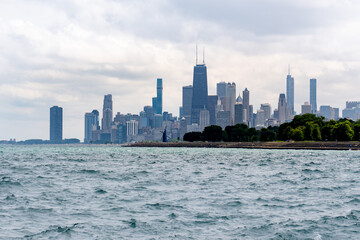
<svg viewBox="0 0 360 240"><path fill-rule="evenodd" d="M205 61L194 67L191 122L200 124L200 111L208 109L207 70Z"/></svg>

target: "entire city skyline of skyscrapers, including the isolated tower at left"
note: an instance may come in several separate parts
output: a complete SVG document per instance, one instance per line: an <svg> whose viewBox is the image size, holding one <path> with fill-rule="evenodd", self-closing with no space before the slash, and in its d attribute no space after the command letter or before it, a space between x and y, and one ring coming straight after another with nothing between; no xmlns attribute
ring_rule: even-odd
<svg viewBox="0 0 360 240"><path fill-rule="evenodd" d="M254 111L250 104L250 91L245 88L236 93L234 82L219 82L216 95L208 94L207 67L205 59L197 62L193 71L192 85L182 87L182 106L179 117L163 111L163 79L156 80L156 97L152 105L144 106L139 114L114 116L112 95L104 96L102 118L98 110L85 113L84 143L126 143L132 141L160 141L166 129L168 139L181 139L185 133L203 131L210 125L226 126L246 124L261 129L290 122L296 115L294 108L295 80L286 76L286 94L280 93L277 107L272 111L269 103L263 103ZM301 113L323 116L325 120L338 120L339 108L329 105L317 107L317 80L310 79L309 102L301 105ZM360 119L360 101L346 102L342 117ZM50 108L50 142L62 141L62 108ZM100 126L101 125L101 126Z"/></svg>

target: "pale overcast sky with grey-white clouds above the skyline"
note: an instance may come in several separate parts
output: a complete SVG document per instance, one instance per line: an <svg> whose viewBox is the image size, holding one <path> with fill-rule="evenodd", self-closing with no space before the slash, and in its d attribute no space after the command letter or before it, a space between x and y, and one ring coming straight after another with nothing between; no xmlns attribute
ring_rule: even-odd
<svg viewBox="0 0 360 240"><path fill-rule="evenodd" d="M357 0L2 0L0 139L49 139L49 108L63 107L63 137L84 138L84 114L138 114L163 78L163 110L179 114L205 48L209 94L216 83L250 91L254 110L277 107L288 65L295 111L360 100ZM101 117L101 114L100 114Z"/></svg>

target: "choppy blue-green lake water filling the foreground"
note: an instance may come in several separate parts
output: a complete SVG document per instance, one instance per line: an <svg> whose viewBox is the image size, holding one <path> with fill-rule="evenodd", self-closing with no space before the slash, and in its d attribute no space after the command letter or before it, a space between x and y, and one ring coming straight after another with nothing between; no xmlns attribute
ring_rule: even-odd
<svg viewBox="0 0 360 240"><path fill-rule="evenodd" d="M359 239L360 152L0 147L1 239Z"/></svg>

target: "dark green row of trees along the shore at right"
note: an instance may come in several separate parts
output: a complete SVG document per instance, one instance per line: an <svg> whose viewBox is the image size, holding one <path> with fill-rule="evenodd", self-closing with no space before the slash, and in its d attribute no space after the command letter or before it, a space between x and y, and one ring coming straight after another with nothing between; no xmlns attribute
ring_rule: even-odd
<svg viewBox="0 0 360 240"><path fill-rule="evenodd" d="M246 124L227 126L224 130L217 125L205 127L202 132L189 132L184 141L208 142L256 142L256 141L359 141L360 120L348 119L325 121L314 114L297 115L291 122L279 127L261 130L249 128Z"/></svg>

